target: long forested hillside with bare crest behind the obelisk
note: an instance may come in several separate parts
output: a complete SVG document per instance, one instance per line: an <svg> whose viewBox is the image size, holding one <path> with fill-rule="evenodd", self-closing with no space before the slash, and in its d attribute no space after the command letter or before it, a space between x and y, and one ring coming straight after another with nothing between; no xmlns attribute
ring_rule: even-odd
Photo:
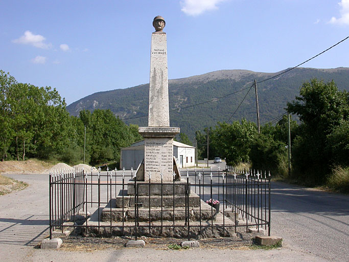
<svg viewBox="0 0 349 262"><path fill-rule="evenodd" d="M232 116L254 79L258 82L276 76L277 73L258 73L247 70L221 70L204 75L169 80L170 121L181 132L194 139L196 130L215 126L217 122L240 120L242 117L257 122L255 94L252 88L239 110ZM285 113L287 102L299 93L300 86L311 78L336 82L339 90L349 90L349 69L296 68L281 76L258 84L261 123ZM101 87L102 88L102 87ZM127 124L147 126L148 88L142 84L128 89L99 92L84 97L67 106L67 111L77 116L81 110L110 109ZM246 89L247 88L247 89ZM227 94L221 99L215 99ZM212 100L208 103L202 103ZM183 108L199 104L196 106Z"/></svg>

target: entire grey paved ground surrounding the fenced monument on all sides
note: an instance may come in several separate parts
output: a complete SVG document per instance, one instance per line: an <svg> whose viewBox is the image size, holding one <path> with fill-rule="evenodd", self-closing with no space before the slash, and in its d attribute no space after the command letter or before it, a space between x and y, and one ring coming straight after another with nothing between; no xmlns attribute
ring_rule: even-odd
<svg viewBox="0 0 349 262"><path fill-rule="evenodd" d="M213 168L219 165L224 167L224 163L212 164ZM349 196L277 182L272 182L271 234L283 237L284 247L280 250L166 251L123 248L91 253L35 249L48 234L48 176L11 174L8 177L25 181L30 186L0 196L2 261L349 260Z"/></svg>

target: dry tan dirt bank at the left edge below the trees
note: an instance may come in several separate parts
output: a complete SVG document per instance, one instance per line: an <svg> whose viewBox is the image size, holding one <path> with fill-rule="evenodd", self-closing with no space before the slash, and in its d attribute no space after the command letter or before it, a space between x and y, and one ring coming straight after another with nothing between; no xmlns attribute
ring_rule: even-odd
<svg viewBox="0 0 349 262"><path fill-rule="evenodd" d="M36 159L26 161L4 161L0 162L0 173L39 174L50 166L52 166L52 164Z"/></svg>

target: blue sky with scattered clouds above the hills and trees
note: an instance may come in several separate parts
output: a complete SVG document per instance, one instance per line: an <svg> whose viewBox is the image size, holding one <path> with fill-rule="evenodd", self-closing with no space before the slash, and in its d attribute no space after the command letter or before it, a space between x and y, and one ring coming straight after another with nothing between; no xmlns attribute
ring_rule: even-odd
<svg viewBox="0 0 349 262"><path fill-rule="evenodd" d="M0 69L67 104L149 82L152 20L166 20L169 79L278 72L349 35L349 0L0 2ZM349 67L349 39L303 67Z"/></svg>

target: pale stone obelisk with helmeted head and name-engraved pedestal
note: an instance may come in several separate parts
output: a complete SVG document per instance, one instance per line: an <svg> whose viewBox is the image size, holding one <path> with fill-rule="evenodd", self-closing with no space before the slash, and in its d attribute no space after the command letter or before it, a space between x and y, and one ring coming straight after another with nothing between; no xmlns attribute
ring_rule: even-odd
<svg viewBox="0 0 349 262"><path fill-rule="evenodd" d="M151 36L148 127L139 127L144 139L144 181L173 180L173 138L179 127L170 127L165 19L156 16Z"/></svg>

